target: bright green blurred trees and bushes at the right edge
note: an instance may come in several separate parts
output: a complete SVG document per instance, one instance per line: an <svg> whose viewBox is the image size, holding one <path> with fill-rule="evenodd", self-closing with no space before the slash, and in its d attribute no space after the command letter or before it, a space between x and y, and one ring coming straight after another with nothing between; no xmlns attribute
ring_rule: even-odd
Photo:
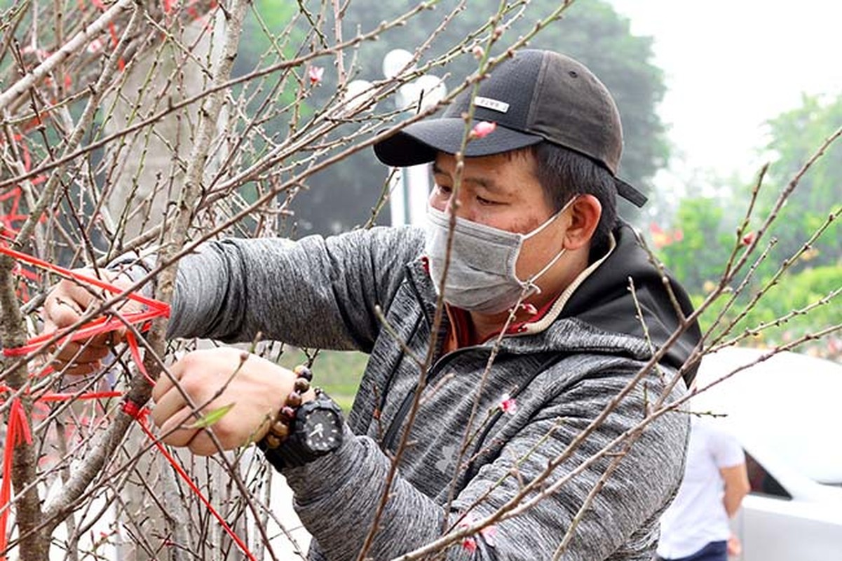
<svg viewBox="0 0 842 561"><path fill-rule="evenodd" d="M842 125L842 95L836 99L805 96L802 105L769 121L770 142L767 146L772 163L766 174L756 209L749 222L749 235L761 226L765 216L809 158L817 152L835 130ZM736 289L743 282L749 266L754 273L736 305L725 318L735 319L758 291L790 263L774 286L756 306L742 318L732 333L753 331L759 325L776 323L758 334L755 342L771 345L815 332L817 329L842 322L839 297L811 310L807 315L792 314L819 302L834 291L842 289L842 245L837 219L822 236L806 248L809 238L821 227L831 213L842 211L842 145L832 144L798 181L796 189L786 201L775 222L764 233L743 274L732 283ZM711 293L722 275L735 245L738 256L743 247L736 238L738 225L749 206L754 184L740 184L729 194L718 197L688 197L679 201L678 211L670 227L651 226L651 239L658 257L674 272L696 304ZM754 262L760 251L768 251L765 259ZM721 297L702 318L703 329L726 306L730 295ZM791 316L791 317L790 317Z"/></svg>

